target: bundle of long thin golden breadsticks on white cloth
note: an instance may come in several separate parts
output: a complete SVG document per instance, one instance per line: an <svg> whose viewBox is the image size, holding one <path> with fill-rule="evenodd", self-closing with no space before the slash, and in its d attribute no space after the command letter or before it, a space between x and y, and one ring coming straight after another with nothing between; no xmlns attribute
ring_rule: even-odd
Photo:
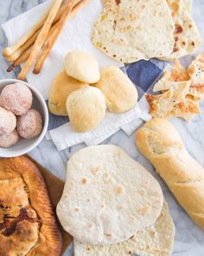
<svg viewBox="0 0 204 256"><path fill-rule="evenodd" d="M18 79L25 80L31 66L35 63L34 74L41 71L43 63L64 28L67 19L72 18L89 0L54 0L49 10L41 16L35 26L13 45L3 49L3 56L11 62L8 72L22 62Z"/></svg>

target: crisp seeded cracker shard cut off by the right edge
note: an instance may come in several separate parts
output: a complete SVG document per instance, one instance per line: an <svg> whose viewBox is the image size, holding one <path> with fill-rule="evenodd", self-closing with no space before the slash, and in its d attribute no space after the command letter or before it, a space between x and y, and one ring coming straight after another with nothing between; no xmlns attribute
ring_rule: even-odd
<svg viewBox="0 0 204 256"><path fill-rule="evenodd" d="M204 52L201 52L188 67L191 79L189 94L198 99L204 98Z"/></svg>

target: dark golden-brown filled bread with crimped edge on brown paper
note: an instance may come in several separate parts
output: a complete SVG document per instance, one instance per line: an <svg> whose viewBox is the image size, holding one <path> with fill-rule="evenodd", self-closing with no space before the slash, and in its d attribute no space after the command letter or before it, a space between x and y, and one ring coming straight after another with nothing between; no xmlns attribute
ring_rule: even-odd
<svg viewBox="0 0 204 256"><path fill-rule="evenodd" d="M61 232L35 164L1 159L0 184L0 256L60 255Z"/></svg>

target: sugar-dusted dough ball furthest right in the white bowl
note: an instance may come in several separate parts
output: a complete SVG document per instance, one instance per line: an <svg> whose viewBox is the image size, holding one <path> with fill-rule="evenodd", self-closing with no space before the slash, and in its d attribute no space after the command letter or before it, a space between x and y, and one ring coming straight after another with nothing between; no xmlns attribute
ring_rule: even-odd
<svg viewBox="0 0 204 256"><path fill-rule="evenodd" d="M31 139L41 134L42 118L40 112L35 109L17 118L17 132L22 138Z"/></svg>

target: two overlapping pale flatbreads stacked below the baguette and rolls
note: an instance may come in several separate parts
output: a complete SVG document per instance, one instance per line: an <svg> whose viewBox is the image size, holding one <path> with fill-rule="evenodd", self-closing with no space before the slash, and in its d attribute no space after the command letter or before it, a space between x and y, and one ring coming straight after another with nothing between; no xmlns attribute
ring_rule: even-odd
<svg viewBox="0 0 204 256"><path fill-rule="evenodd" d="M113 145L70 158L57 215L75 256L171 255L175 226L156 179Z"/></svg>

